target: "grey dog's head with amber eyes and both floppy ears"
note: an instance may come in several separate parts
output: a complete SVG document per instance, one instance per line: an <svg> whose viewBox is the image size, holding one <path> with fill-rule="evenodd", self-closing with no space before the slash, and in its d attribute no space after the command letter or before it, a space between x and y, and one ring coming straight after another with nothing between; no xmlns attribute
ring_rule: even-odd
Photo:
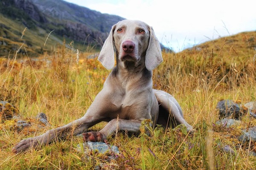
<svg viewBox="0 0 256 170"><path fill-rule="evenodd" d="M150 71L163 61L153 28L142 21L123 20L112 26L98 57L107 69L115 64L114 47L121 62L139 62L145 56L145 66Z"/></svg>

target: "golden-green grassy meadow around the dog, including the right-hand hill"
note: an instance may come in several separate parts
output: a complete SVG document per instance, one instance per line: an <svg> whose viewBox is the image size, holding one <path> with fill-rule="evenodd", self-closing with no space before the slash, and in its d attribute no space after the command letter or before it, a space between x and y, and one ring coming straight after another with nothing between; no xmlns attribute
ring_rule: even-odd
<svg viewBox="0 0 256 170"><path fill-rule="evenodd" d="M44 42L42 42L44 43ZM20 46L23 51L26 48ZM14 154L14 144L30 136L65 125L84 115L110 73L100 62L88 59L98 51L80 53L59 45L36 58L0 58L0 101L10 102L32 126L19 130L15 120L0 124L0 167L28 169L116 170L253 170L256 142L241 144L241 129L256 126L249 114L239 127L215 124L216 104L223 99L246 103L256 100L256 32L224 37L179 53L163 51L163 63L153 71L153 88L175 96L186 121L196 130L187 133L156 127L151 136L117 133L108 138L120 154L82 153L81 136L69 136L49 145ZM43 51L44 52L44 51ZM34 117L46 113L51 126L38 126ZM91 129L100 130L105 122ZM235 153L223 150L228 144ZM113 156L115 159L109 159Z"/></svg>

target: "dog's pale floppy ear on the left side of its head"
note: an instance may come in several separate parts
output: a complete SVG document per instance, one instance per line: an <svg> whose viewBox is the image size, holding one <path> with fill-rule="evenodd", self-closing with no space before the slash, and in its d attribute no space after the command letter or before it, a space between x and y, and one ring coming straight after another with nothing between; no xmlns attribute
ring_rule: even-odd
<svg viewBox="0 0 256 170"><path fill-rule="evenodd" d="M115 53L114 53L114 43L113 43L113 31L116 25L112 26L112 29L105 40L102 50L99 53L98 60L102 65L108 70L112 69L115 65Z"/></svg>

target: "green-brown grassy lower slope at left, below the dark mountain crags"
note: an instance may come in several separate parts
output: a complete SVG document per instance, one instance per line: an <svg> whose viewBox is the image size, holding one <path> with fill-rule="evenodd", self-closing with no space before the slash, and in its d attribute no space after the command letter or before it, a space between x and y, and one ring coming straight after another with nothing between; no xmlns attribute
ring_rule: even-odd
<svg viewBox="0 0 256 170"><path fill-rule="evenodd" d="M13 57L20 48L17 57L26 55L37 57L43 52L51 51L54 46L62 44L61 39L40 27L29 29L18 20L11 20L0 14L0 55ZM4 24L3 24L4 23ZM24 35L23 35L24 34ZM49 35L49 38L47 39ZM47 43L44 45L44 42Z"/></svg>

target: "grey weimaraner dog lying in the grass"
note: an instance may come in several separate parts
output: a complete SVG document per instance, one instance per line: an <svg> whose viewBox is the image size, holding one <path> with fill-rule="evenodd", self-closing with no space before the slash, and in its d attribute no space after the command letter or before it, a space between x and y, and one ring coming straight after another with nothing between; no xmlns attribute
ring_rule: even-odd
<svg viewBox="0 0 256 170"><path fill-rule="evenodd" d="M164 91L152 89L152 70L163 58L160 43L150 26L137 20L120 21L112 27L98 59L105 68L113 70L85 115L40 136L20 141L12 148L14 153L83 133L102 121L108 124L99 132L83 133L84 141L104 141L117 129L140 133L144 119L151 119L152 126L184 124L192 130L175 98Z"/></svg>

